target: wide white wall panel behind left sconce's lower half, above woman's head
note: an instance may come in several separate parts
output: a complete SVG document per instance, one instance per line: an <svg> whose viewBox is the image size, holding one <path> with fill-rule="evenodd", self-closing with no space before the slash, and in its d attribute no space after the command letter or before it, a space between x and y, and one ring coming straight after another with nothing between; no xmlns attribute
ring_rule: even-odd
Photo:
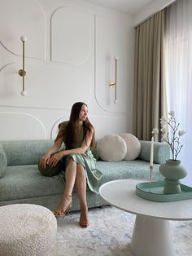
<svg viewBox="0 0 192 256"><path fill-rule="evenodd" d="M0 72L0 105L28 108L68 109L76 101L89 101L89 68L63 68L46 64L26 64L26 97L20 95L22 77L19 64L8 64Z"/></svg>

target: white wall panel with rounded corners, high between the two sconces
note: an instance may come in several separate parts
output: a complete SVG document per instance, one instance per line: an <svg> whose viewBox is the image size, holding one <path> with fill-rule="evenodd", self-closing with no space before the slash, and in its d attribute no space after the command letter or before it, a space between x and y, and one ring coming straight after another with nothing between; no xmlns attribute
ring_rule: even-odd
<svg viewBox="0 0 192 256"><path fill-rule="evenodd" d="M60 7L51 18L51 60L81 64L88 59L93 41L93 17L75 7Z"/></svg>

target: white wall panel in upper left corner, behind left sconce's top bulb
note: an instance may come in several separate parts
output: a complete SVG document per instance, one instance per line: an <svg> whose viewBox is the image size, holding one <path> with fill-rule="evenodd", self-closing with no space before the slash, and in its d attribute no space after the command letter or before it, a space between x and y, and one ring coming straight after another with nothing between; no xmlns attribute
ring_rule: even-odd
<svg viewBox="0 0 192 256"><path fill-rule="evenodd" d="M37 1L3 1L0 34L2 45L13 54L22 55L20 37L24 35L25 55L45 59L45 15Z"/></svg>

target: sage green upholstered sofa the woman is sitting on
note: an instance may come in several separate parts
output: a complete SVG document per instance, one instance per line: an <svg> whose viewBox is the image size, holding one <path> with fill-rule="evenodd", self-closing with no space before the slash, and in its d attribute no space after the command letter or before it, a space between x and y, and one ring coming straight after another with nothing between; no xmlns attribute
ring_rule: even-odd
<svg viewBox="0 0 192 256"><path fill-rule="evenodd" d="M97 161L97 169L103 172L103 183L114 179L149 179L151 142L140 141L139 157L133 161ZM63 173L54 177L42 176L37 163L53 140L17 140L0 142L0 205L37 204L55 209L64 190ZM155 143L153 179L163 179L159 165L169 158L167 143ZM74 189L72 210L80 205ZM87 189L89 208L107 205L101 196Z"/></svg>

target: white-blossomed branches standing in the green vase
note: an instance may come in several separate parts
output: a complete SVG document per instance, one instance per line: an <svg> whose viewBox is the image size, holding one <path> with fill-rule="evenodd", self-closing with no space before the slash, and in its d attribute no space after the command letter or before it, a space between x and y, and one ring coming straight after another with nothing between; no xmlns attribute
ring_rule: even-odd
<svg viewBox="0 0 192 256"><path fill-rule="evenodd" d="M185 131L178 130L180 123L176 121L175 113L173 111L170 111L168 113L168 116L168 120L165 117L160 118L161 129L158 130L157 128L154 128L152 133L154 135L160 134L161 141L168 143L172 151L172 160L176 161L177 156L179 152L181 152L181 148L183 147L183 145L180 142L180 138L182 135L185 135Z"/></svg>

